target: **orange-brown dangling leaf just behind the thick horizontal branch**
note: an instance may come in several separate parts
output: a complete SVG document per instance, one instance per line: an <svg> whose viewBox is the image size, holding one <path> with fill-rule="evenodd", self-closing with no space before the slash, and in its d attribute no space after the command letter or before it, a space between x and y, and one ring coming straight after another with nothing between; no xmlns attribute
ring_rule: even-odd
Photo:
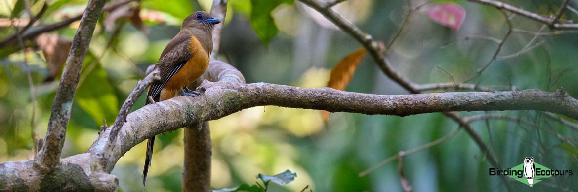
<svg viewBox="0 0 578 192"><path fill-rule="evenodd" d="M357 66L360 65L361 59L365 56L365 52L365 48L359 48L339 61L333 70L331 70L331 76L329 76L327 86L338 90L344 90L349 84L349 81L351 81L351 78L353 78L353 74L355 73L355 70L357 70ZM323 121L327 122L329 112L321 111L321 117L323 118Z"/></svg>

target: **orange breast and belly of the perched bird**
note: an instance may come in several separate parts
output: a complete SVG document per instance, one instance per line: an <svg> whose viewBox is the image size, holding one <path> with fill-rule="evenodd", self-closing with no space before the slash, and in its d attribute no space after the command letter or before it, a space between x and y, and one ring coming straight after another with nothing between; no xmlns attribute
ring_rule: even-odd
<svg viewBox="0 0 578 192"><path fill-rule="evenodd" d="M192 36L188 42L188 51L191 51L191 58L169 82L166 83L165 89L180 91L181 88L196 81L205 73L209 67L209 51L205 50L195 36Z"/></svg>

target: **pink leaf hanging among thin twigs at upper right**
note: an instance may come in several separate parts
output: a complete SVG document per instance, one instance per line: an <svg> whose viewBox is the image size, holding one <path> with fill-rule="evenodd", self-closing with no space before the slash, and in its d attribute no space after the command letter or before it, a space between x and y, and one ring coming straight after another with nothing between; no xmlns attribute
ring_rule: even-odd
<svg viewBox="0 0 578 192"><path fill-rule="evenodd" d="M427 7L425 12L429 18L439 24L445 25L457 31L466 18L464 7L455 3L443 3Z"/></svg>

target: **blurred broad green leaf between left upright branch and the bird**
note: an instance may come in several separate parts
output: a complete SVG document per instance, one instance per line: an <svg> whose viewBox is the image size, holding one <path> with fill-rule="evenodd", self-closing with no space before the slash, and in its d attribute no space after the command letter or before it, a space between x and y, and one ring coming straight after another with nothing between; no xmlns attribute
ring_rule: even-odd
<svg viewBox="0 0 578 192"><path fill-rule="evenodd" d="M88 63L91 63L93 57L87 56L84 63L83 73L86 73ZM110 84L106 71L102 69L99 63L96 65L86 79L79 85L76 90L75 101L80 108L86 111L94 122L113 122L118 110L118 99L114 94L114 89Z"/></svg>

